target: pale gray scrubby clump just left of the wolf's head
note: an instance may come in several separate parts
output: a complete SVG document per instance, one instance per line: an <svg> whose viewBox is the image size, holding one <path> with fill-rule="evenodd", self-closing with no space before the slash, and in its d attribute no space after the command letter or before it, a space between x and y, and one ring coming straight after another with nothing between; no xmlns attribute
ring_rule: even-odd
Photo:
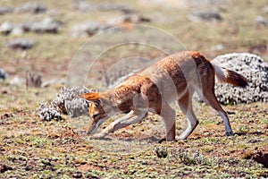
<svg viewBox="0 0 268 179"><path fill-rule="evenodd" d="M63 87L53 101L41 103L40 107L37 108L39 117L44 120L52 120L61 114L71 117L88 115L88 101L78 97L86 92L88 92L87 89L79 87Z"/></svg>

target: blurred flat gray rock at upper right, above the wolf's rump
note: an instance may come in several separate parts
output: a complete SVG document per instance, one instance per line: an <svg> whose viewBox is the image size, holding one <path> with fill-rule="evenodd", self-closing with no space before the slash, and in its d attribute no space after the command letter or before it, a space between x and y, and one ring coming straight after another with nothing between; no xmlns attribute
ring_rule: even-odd
<svg viewBox="0 0 268 179"><path fill-rule="evenodd" d="M188 14L190 21L222 21L222 16L219 13L212 11L194 11Z"/></svg>

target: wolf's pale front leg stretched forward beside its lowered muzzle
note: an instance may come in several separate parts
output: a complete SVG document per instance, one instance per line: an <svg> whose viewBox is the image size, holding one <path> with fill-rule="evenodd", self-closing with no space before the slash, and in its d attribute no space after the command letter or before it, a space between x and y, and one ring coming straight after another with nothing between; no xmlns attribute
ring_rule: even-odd
<svg viewBox="0 0 268 179"><path fill-rule="evenodd" d="M135 124L147 117L147 112L144 111L130 111L127 115L122 116L113 123L109 124L102 132L96 133L92 136L93 139L104 138L108 133L115 132L130 124Z"/></svg>

